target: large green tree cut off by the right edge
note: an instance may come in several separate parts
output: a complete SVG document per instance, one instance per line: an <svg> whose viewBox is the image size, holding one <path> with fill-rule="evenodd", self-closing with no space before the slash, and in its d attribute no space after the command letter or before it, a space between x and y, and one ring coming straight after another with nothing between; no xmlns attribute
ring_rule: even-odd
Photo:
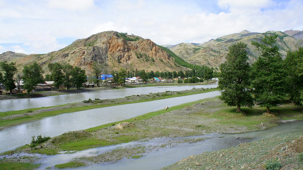
<svg viewBox="0 0 303 170"><path fill-rule="evenodd" d="M303 90L303 48L299 47L298 51L287 52L284 63L287 70L285 91L290 96L291 102L302 105L303 98L300 93Z"/></svg>

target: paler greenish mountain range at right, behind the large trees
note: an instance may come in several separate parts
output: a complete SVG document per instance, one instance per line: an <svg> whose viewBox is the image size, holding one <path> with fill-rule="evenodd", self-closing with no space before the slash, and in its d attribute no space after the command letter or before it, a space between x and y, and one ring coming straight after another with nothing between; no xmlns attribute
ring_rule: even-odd
<svg viewBox="0 0 303 170"><path fill-rule="evenodd" d="M300 43L300 40L291 37L284 32L269 31L265 33L258 33L250 32L248 30L211 39L208 42L204 42L199 45L180 43L177 45L167 45L167 47L189 63L218 67L222 62L225 61L225 57L228 53L228 46L241 41L247 44L247 54L249 58L248 62L253 63L256 61L258 56L261 55L261 53L256 51L256 48L251 45L251 41L262 43L261 40L264 35L273 34L278 34L278 40L275 45L280 48L282 55L285 56L288 50L296 50L298 48L297 44ZM295 33L295 35L297 34L301 35L300 31Z"/></svg>

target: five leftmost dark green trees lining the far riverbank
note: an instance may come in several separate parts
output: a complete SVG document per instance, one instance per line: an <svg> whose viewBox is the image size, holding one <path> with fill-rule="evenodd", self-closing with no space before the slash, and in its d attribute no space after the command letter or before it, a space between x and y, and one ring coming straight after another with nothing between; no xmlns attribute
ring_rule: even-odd
<svg viewBox="0 0 303 170"><path fill-rule="evenodd" d="M82 86L82 83L86 81L85 70L79 67L73 67L70 64L64 63L50 63L48 64L48 69L51 74L45 75L43 78L44 71L42 67L38 65L36 62L25 65L22 73L17 74L18 84L20 80L23 80L23 88L27 89L28 96L30 92L40 83L44 81L54 81L54 86L58 88L63 85L70 89L71 86L77 87L79 89ZM14 62L0 62L0 83L5 86L5 90L10 91L12 95L12 90L16 88L14 75L17 72L17 68ZM0 91L0 95L1 91Z"/></svg>

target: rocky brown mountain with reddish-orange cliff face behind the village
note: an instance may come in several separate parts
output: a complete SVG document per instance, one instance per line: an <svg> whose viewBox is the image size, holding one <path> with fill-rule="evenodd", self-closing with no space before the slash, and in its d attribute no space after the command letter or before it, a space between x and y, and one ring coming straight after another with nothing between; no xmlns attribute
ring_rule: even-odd
<svg viewBox="0 0 303 170"><path fill-rule="evenodd" d="M15 62L19 69L28 63L37 62L46 72L49 63L67 62L85 69L87 74L91 72L92 62L102 64L107 70L119 68L136 70L137 68L161 72L187 69L178 65L174 57L150 39L115 31L101 32L88 38L78 39L65 48L47 54L26 55Z"/></svg>

